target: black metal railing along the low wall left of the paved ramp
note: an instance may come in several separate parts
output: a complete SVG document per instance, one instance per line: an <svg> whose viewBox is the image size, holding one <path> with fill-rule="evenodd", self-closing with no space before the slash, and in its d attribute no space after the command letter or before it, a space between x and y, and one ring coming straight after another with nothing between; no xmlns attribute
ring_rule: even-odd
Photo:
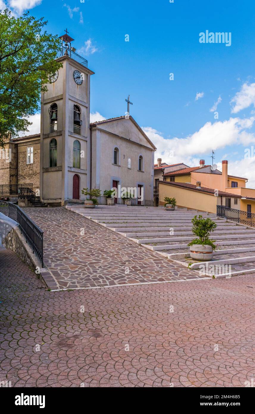
<svg viewBox="0 0 255 414"><path fill-rule="evenodd" d="M0 213L17 221L19 229L41 260L43 267L43 231L15 204L0 200Z"/></svg>

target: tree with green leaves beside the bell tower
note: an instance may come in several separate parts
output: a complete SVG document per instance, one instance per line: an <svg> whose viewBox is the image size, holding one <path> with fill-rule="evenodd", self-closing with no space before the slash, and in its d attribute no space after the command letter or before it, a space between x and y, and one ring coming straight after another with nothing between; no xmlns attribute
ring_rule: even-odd
<svg viewBox="0 0 255 414"><path fill-rule="evenodd" d="M27 132L26 118L40 109L41 92L62 64L57 62L60 39L44 30L47 21L29 12L21 17L0 13L0 147L3 136Z"/></svg>

